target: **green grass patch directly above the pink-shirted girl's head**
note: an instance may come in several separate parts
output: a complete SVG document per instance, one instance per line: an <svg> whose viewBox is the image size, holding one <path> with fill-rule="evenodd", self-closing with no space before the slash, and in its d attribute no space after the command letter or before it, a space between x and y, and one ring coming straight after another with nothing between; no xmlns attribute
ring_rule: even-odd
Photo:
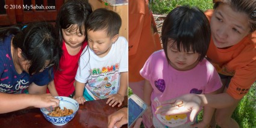
<svg viewBox="0 0 256 128"><path fill-rule="evenodd" d="M149 7L154 14L167 14L178 5L190 5L202 11L213 8L213 0L152 0Z"/></svg>

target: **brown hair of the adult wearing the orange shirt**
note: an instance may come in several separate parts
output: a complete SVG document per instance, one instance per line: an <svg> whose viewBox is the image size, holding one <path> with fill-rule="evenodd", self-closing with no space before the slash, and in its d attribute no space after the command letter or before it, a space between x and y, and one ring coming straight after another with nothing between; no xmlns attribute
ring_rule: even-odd
<svg viewBox="0 0 256 128"><path fill-rule="evenodd" d="M216 9L220 3L228 4L234 11L248 15L251 32L256 30L256 1L252 0L213 0L213 8Z"/></svg>

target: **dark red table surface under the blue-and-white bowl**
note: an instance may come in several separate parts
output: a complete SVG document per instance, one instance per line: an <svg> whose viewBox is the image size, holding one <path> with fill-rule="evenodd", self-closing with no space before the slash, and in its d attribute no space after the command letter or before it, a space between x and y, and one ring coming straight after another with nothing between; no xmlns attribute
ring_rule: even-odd
<svg viewBox="0 0 256 128"><path fill-rule="evenodd" d="M127 105L127 100L125 96L122 106ZM93 100L80 105L75 117L64 126L55 126L47 121L39 108L27 108L0 114L0 127L107 127L108 115L122 106L111 107L106 102L107 99Z"/></svg>

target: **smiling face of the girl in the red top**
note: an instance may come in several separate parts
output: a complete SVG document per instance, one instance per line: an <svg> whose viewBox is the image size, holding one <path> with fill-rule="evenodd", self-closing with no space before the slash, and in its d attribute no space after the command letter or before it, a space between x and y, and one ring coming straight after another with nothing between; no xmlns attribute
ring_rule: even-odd
<svg viewBox="0 0 256 128"><path fill-rule="evenodd" d="M82 32L83 34L80 33L77 25L70 25L69 28L61 29L61 31L65 43L73 48L81 46L81 43L86 38L84 32Z"/></svg>

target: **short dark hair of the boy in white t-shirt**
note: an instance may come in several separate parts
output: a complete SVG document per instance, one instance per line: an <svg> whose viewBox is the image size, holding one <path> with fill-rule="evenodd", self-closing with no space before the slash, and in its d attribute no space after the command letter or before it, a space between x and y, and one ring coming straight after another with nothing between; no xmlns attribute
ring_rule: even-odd
<svg viewBox="0 0 256 128"><path fill-rule="evenodd" d="M119 34L122 20L119 14L106 8L98 8L89 16L86 26L87 31L104 30L109 37Z"/></svg>

